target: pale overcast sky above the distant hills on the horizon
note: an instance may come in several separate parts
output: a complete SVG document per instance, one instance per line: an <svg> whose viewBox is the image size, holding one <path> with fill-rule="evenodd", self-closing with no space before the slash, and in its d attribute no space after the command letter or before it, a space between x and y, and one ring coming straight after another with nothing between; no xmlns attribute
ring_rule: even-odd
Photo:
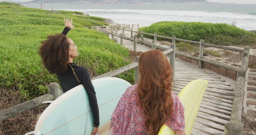
<svg viewBox="0 0 256 135"><path fill-rule="evenodd" d="M4 0L0 0L4 1ZM19 2L28 2L32 0L12 0ZM207 0L208 2L236 3L236 4L256 4L256 0Z"/></svg>

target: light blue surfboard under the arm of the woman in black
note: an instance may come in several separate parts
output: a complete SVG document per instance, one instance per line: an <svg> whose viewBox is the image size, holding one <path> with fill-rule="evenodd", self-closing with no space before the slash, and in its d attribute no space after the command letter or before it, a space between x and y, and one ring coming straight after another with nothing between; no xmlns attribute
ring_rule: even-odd
<svg viewBox="0 0 256 135"><path fill-rule="evenodd" d="M104 77L92 80L100 113L100 127L110 121L120 97L131 85L127 81ZM88 106L88 95L78 85L53 101L40 115L34 135L90 135L93 116Z"/></svg>

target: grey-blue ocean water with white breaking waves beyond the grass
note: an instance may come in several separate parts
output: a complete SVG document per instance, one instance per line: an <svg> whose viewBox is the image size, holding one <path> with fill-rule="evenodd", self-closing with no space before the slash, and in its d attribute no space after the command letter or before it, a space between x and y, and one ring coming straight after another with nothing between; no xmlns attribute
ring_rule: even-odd
<svg viewBox="0 0 256 135"><path fill-rule="evenodd" d="M40 4L24 6L41 8ZM235 24L244 30L256 30L256 5L253 4L43 4L42 7L80 11L119 24L139 24L140 27L159 21L184 21Z"/></svg>

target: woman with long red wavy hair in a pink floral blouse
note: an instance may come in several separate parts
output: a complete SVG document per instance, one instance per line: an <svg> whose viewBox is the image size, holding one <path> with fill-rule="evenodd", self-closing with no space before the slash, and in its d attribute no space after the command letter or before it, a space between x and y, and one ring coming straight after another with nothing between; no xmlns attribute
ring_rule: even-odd
<svg viewBox="0 0 256 135"><path fill-rule="evenodd" d="M111 117L110 135L157 135L165 124L185 135L184 107L172 93L172 67L159 50L139 58L138 84L127 88Z"/></svg>

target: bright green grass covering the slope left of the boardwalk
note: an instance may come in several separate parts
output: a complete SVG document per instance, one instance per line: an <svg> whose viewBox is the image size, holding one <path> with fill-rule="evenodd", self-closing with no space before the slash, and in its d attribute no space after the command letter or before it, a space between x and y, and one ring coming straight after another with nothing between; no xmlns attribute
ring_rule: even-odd
<svg viewBox="0 0 256 135"><path fill-rule="evenodd" d="M47 85L58 82L56 75L44 69L38 49L51 34L62 32L63 18L73 18L75 28L68 33L79 56L76 63L97 76L129 64L126 48L108 39L106 34L85 27L108 25L104 18L52 13L0 3L0 87L20 91L28 99L47 93ZM133 82L133 72L118 75Z"/></svg>

